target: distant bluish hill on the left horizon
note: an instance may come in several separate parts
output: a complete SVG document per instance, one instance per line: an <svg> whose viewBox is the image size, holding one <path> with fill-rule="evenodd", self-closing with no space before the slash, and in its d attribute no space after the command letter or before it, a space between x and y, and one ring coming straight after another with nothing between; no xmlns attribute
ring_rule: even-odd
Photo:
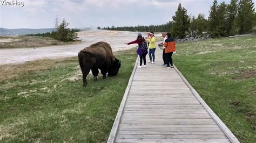
<svg viewBox="0 0 256 143"><path fill-rule="evenodd" d="M30 29L30 28L17 28L17 29L6 29L0 28L0 35L25 35L25 34L37 34L55 31L56 28L41 28L41 29Z"/></svg>

